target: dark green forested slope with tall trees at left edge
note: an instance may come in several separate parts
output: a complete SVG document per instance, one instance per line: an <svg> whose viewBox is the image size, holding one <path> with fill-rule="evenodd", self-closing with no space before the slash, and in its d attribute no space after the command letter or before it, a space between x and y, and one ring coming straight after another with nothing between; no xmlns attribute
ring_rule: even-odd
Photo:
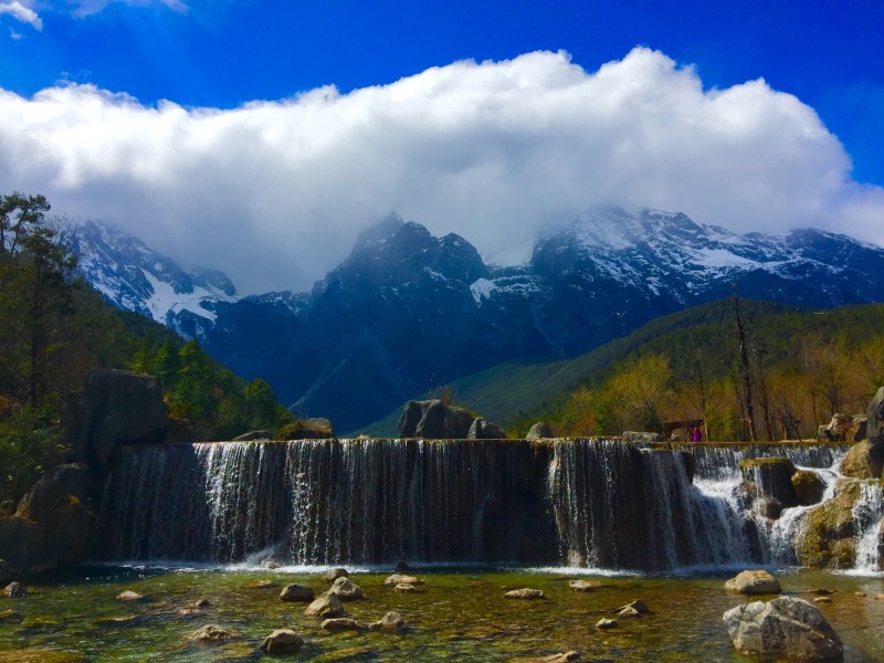
<svg viewBox="0 0 884 663"><path fill-rule="evenodd" d="M105 303L77 278L49 209L40 196L0 196L0 512L65 460L63 399L98 368L158 376L168 414L206 439L292 419L263 380L245 383L196 341Z"/></svg>

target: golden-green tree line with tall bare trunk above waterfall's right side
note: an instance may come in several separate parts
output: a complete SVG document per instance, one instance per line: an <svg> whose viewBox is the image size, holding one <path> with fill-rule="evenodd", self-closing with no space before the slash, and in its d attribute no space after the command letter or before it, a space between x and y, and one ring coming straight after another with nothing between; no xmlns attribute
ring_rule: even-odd
<svg viewBox="0 0 884 663"><path fill-rule="evenodd" d="M663 335L544 414L562 435L663 432L702 420L705 439L813 439L834 413L861 414L884 385L884 306L754 315Z"/></svg>

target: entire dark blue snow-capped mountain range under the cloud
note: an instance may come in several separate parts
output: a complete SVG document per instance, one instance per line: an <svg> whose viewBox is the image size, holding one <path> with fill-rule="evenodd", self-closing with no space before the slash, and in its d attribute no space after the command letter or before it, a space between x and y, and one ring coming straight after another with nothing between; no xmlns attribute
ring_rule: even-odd
<svg viewBox="0 0 884 663"><path fill-rule="evenodd" d="M884 249L817 230L740 235L655 210L577 217L515 267L393 215L312 292L243 298L222 275L183 274L107 232L92 228L102 241L84 264L112 302L199 337L341 431L501 361L587 351L734 285L786 304L884 301Z"/></svg>

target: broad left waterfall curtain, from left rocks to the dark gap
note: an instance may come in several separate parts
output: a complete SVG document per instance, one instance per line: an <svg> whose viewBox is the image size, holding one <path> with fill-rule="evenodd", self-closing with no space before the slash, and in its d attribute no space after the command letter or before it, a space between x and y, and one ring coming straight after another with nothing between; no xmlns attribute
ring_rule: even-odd
<svg viewBox="0 0 884 663"><path fill-rule="evenodd" d="M103 522L114 559L516 560L541 536L529 445L225 442L128 449ZM539 524L539 525L538 525Z"/></svg>

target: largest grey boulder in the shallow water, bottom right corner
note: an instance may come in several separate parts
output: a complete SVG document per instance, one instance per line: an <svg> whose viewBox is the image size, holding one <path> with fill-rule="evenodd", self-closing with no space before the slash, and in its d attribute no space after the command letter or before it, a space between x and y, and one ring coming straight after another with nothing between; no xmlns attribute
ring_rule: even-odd
<svg viewBox="0 0 884 663"><path fill-rule="evenodd" d="M819 609L793 597L744 603L723 620L734 646L751 656L827 661L840 659L844 649Z"/></svg>

